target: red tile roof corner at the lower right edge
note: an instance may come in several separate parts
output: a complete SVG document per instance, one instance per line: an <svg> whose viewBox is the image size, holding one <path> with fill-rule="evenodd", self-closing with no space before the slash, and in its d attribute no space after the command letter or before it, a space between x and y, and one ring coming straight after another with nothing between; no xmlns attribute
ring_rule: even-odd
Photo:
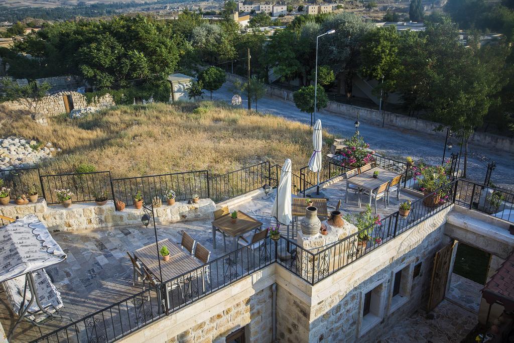
<svg viewBox="0 0 514 343"><path fill-rule="evenodd" d="M514 252L485 284L482 297L488 304L499 301L507 311L514 311Z"/></svg>

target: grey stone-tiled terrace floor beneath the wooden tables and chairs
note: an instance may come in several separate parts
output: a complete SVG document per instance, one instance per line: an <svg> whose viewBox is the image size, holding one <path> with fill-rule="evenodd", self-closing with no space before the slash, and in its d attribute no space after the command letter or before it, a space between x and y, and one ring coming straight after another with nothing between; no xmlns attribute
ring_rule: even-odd
<svg viewBox="0 0 514 343"><path fill-rule="evenodd" d="M340 211L344 214L358 213L364 210L367 198L363 198L362 207L358 206L358 195L351 192L348 197L348 203L344 203L346 180L339 176L326 183L323 183L321 191L328 198L327 208L328 212L335 209L338 202L341 201ZM306 190L306 194L315 192L315 188ZM254 219L262 222L264 228L275 225L274 218L271 217L271 207L273 204L276 192L272 190L269 194L264 194L262 189L251 191L242 196L233 198L232 200L224 203L217 204L217 208L228 205L230 210L241 210L246 214L252 216ZM294 197L302 196L293 195ZM412 201L415 202L422 197L419 192L414 192L408 189L401 189L400 200L396 199L396 195L391 195L390 204L387 209L383 207L380 200L377 205L377 211L381 218L395 213L398 209L400 202ZM60 205L57 205L60 206ZM107 206L113 206L111 203ZM420 212L427 212L424 209L419 209ZM428 213L428 212L427 212ZM227 239L227 253L224 252L223 238L221 234L216 235L216 249L213 248L211 220L199 221L184 221L178 223L157 223L157 240L169 239L176 242L179 246L182 231L187 232L198 243L204 245L211 251L210 261L216 261L221 258L216 265L210 265L210 279L211 284L206 284L206 291L216 291L217 287L222 287L225 284L232 282L232 278L248 274L258 268L258 265L251 263L251 260L257 264L272 263L273 257L271 256L270 246L273 242L267 239L266 248L261 251L256 251L255 254L261 256L249 256L245 252L243 258L236 263L237 265L231 266L231 270L227 270L227 257L231 259L234 254L230 255L232 250L231 239ZM296 230L299 230L297 227ZM295 238L296 238L295 230ZM286 236L286 227L280 228L282 236ZM292 231L292 230L291 230ZM118 320L120 321L120 329L128 333L143 326L143 324L158 314L158 305L156 292L148 292L131 299L128 302L123 302L124 299L133 297L142 291L142 282L137 281L136 285L132 285L133 268L126 251L131 253L143 246L155 244L155 236L152 225L148 227L142 224L111 227L111 228L98 228L93 230L80 230L80 231L63 231L52 232L53 239L62 247L67 254L67 259L63 262L46 268L52 283L57 287L61 293L64 307L60 310L62 319L51 319L45 321L41 327L33 326L32 324L22 321L13 335L13 341L32 341L37 340L45 334L57 330L73 321L80 320L88 315L94 314L97 311L108 308L116 304L109 312L113 314L112 318L105 318L102 312L97 316L88 318L86 321L80 323L78 326L72 326L66 332L59 334L60 339L69 339L69 341L77 341L75 333L79 331L79 341L100 342L112 340L114 334L119 335L120 332L112 332L109 328L113 326L111 323L105 324L105 321ZM252 232L247 233L246 239L250 241ZM292 241L296 241L293 239ZM279 255L282 257L284 265L291 265L292 260L290 254L287 252L286 242L279 242ZM262 251L265 256L263 258ZM291 248L289 248L291 250ZM250 250L251 251L251 250ZM253 264L253 266L252 266ZM234 275L234 272L236 275ZM197 280L196 280L197 281ZM198 295L201 295L201 286L198 282L192 282L192 296L188 299L188 290L186 286L182 286L183 291L186 293L186 300L183 300L177 290L171 291L170 302L177 308L186 306ZM148 287L148 285L147 285ZM150 295L150 298L148 297ZM118 303L120 302L121 303ZM114 312L114 313L113 313ZM113 319L115 318L115 319ZM5 332L9 332L12 328L15 317L6 299L5 292L0 294L0 321L4 327ZM68 337L66 337L68 335ZM74 338L75 337L75 338ZM57 341L56 337L49 337L49 341ZM44 339L43 341L47 341Z"/></svg>

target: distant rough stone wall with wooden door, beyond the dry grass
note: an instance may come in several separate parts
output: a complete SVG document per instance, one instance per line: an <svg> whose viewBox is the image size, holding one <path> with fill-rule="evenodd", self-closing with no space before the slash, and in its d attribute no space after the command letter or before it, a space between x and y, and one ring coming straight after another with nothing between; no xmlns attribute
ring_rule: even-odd
<svg viewBox="0 0 514 343"><path fill-rule="evenodd" d="M66 113L66 107L64 106L64 97L70 95L73 100L73 106L75 109L80 109L87 106L97 107L98 109L108 109L111 106L114 106L113 97L110 94L106 94L100 97L94 103L88 105L86 98L84 95L78 92L60 92L56 94L52 94L43 98L37 106L37 112L46 116L54 116L61 113ZM24 110L28 111L29 109L20 102L16 101L6 101L0 103L0 105L5 106L6 110L15 111L15 110Z"/></svg>

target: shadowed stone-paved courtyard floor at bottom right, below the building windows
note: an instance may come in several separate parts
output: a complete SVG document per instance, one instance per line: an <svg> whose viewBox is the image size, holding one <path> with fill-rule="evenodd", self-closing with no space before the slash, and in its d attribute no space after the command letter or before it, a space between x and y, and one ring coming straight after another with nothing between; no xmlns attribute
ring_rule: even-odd
<svg viewBox="0 0 514 343"><path fill-rule="evenodd" d="M475 327L478 317L461 306L443 300L427 316L418 310L391 328L387 335L377 339L381 343L460 342ZM378 338L378 337L377 337Z"/></svg>

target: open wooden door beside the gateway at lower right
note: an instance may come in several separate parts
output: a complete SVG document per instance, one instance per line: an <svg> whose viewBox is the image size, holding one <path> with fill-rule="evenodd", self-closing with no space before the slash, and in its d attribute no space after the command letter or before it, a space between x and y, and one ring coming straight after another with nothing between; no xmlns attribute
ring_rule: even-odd
<svg viewBox="0 0 514 343"><path fill-rule="evenodd" d="M453 243L448 244L435 253L430 296L428 298L428 312L432 311L445 297L452 252L456 242L453 241Z"/></svg>

